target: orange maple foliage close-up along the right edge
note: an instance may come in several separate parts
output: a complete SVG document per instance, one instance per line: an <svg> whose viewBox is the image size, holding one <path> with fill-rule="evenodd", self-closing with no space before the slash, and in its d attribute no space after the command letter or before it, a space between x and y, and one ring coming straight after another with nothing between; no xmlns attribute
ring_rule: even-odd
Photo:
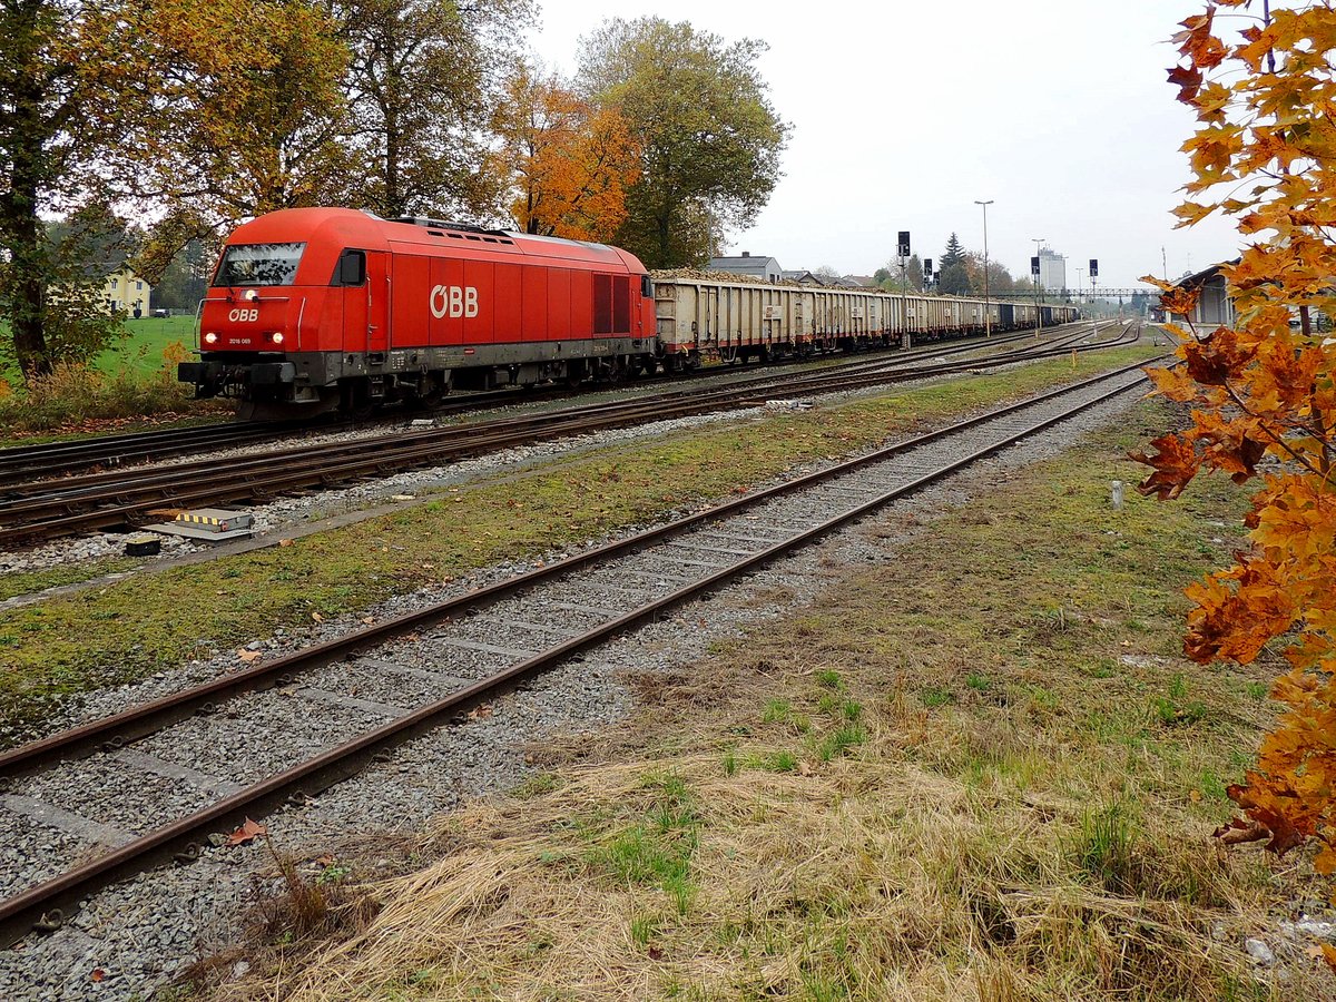
<svg viewBox="0 0 1336 1002"><path fill-rule="evenodd" d="M1233 329L1190 322L1196 294L1165 289L1184 322L1174 369L1150 370L1158 391L1190 403L1186 430L1140 454L1153 472L1141 489L1177 497L1200 472L1260 482L1246 525L1252 546L1193 585L1185 652L1249 664L1268 644L1288 671L1272 696L1285 705L1257 764L1229 788L1242 816L1226 840L1269 839L1277 852L1316 839L1319 871L1336 870L1336 342L1315 311L1336 310L1336 8L1329 1L1236 13L1238 36L1217 32L1216 0L1174 36L1169 79L1197 116L1184 144L1194 179L1176 210L1190 226L1213 214L1245 240L1224 274ZM1297 330L1291 318L1297 313Z"/></svg>

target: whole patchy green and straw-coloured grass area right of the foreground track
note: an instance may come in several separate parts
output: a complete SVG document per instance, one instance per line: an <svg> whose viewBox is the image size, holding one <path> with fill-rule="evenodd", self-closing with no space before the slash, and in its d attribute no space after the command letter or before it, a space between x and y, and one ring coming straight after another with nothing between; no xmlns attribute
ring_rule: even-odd
<svg viewBox="0 0 1336 1002"><path fill-rule="evenodd" d="M635 720L444 819L425 868L361 888L374 919L295 945L271 929L248 979L199 990L1336 997L1267 919L1321 896L1308 860L1208 838L1272 712L1263 668L1177 656L1181 588L1237 545L1238 492L1108 502L1138 476L1125 450L1166 421L1140 405L875 569L828 565L808 611L633 676ZM338 866L355 882L354 858ZM1283 971L1248 961L1252 935Z"/></svg>

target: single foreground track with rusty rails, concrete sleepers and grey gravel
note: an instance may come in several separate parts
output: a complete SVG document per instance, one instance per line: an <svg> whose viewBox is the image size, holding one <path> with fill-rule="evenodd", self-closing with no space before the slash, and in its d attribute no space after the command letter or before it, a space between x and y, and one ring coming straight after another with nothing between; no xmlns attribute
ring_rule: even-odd
<svg viewBox="0 0 1336 1002"><path fill-rule="evenodd" d="M79 899L116 880L226 851L208 836L303 803L542 671L1137 389L1141 365L0 754L0 830L13 843L0 843L11 863L0 874L0 945L59 929ZM238 740L274 728L285 741L263 755ZM119 827L127 800L154 806L142 831ZM20 884L19 872L37 876Z"/></svg>

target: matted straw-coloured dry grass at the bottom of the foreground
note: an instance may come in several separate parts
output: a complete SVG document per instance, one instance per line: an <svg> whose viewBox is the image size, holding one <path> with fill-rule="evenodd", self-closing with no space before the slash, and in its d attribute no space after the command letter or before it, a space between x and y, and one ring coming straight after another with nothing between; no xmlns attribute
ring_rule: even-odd
<svg viewBox="0 0 1336 1002"><path fill-rule="evenodd" d="M1079 804L979 795L896 763L903 737L792 772L681 756L676 792L651 763L601 766L476 807L437 835L441 862L379 888L363 937L281 994L1217 998L1221 975L1244 977L1210 935L1238 921L1228 895L1208 911L1108 894L1065 852ZM1216 891L1238 880L1217 872Z"/></svg>

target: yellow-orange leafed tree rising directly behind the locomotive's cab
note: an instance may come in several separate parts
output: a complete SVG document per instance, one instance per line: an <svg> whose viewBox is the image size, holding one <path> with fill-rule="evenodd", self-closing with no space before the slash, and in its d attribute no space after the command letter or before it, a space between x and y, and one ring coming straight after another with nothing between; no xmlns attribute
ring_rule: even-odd
<svg viewBox="0 0 1336 1002"><path fill-rule="evenodd" d="M140 198L166 204L143 270L156 281L192 238L278 208L337 203L349 63L329 9L309 0L154 0L138 31L164 80L132 139ZM150 135L152 132L152 135Z"/></svg>

